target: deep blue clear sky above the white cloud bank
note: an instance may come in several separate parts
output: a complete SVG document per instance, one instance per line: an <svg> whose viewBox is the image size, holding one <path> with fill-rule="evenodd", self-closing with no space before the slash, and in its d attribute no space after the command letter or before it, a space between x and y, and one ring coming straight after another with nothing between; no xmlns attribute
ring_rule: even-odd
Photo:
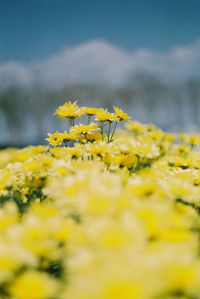
<svg viewBox="0 0 200 299"><path fill-rule="evenodd" d="M200 38L200 0L0 0L0 62L104 39L167 50Z"/></svg>

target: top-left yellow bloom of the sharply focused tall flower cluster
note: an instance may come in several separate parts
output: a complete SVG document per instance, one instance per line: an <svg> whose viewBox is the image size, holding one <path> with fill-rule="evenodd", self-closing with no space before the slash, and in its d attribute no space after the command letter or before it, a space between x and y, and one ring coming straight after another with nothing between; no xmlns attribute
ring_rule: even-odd
<svg viewBox="0 0 200 299"><path fill-rule="evenodd" d="M80 117L84 114L84 112L81 111L81 109L77 105L77 101L76 101L74 103L67 102L63 106L60 106L56 110L55 114L58 115L58 117L64 119L67 117L69 117L69 118Z"/></svg>

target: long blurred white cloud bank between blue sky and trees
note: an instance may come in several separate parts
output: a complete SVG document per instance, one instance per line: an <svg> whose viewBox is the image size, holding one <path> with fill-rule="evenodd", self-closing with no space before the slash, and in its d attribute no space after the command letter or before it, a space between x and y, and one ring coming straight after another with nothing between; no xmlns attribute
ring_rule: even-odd
<svg viewBox="0 0 200 299"><path fill-rule="evenodd" d="M58 87L66 82L123 84L138 72L160 78L184 80L200 76L200 41L166 52L139 49L128 52L106 41L94 40L33 64L9 62L0 65L1 87L34 80Z"/></svg>

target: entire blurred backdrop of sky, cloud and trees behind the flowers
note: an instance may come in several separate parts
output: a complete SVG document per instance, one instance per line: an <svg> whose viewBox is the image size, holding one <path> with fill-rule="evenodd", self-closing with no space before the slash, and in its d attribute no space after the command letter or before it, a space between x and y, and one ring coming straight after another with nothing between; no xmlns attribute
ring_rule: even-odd
<svg viewBox="0 0 200 299"><path fill-rule="evenodd" d="M66 129L68 100L200 132L200 1L0 0L0 147Z"/></svg>

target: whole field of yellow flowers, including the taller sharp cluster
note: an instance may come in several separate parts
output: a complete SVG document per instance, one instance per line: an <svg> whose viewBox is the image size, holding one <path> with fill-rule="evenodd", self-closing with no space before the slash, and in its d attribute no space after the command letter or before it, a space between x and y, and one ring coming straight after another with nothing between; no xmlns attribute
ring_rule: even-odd
<svg viewBox="0 0 200 299"><path fill-rule="evenodd" d="M0 298L200 298L200 136L55 114L49 146L0 151Z"/></svg>

